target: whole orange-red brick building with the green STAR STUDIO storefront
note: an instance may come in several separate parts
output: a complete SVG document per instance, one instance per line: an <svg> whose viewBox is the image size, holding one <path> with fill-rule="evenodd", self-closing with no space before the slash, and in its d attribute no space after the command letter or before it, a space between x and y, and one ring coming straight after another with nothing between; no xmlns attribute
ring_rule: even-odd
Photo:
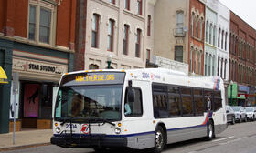
<svg viewBox="0 0 256 153"><path fill-rule="evenodd" d="M59 78L73 70L75 15L76 1L0 0L0 66L8 77L0 85L0 133L9 131L13 117L18 130L51 127Z"/></svg>

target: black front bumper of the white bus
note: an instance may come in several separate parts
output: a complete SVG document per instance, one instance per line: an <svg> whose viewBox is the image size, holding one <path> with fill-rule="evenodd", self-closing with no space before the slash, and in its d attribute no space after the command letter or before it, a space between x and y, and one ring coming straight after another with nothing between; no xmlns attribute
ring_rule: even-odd
<svg viewBox="0 0 256 153"><path fill-rule="evenodd" d="M105 135L82 137L76 135L54 135L51 144L62 148L123 148L127 147L127 138L106 137Z"/></svg>

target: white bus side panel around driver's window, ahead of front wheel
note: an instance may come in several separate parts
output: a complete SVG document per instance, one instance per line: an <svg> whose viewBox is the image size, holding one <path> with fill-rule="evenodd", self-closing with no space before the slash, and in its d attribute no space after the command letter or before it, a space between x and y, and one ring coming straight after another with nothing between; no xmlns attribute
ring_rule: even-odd
<svg viewBox="0 0 256 153"><path fill-rule="evenodd" d="M124 135L127 136L129 148L153 148L155 146L155 123L153 123L153 103L151 83L133 80L133 87L142 91L143 115L140 117L125 117L123 115Z"/></svg>

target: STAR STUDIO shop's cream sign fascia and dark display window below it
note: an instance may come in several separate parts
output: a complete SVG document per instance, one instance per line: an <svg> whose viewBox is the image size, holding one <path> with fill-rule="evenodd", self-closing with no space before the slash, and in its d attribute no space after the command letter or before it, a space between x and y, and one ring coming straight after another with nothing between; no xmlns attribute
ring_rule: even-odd
<svg viewBox="0 0 256 153"><path fill-rule="evenodd" d="M19 74L19 93L16 97L16 115L13 112L15 105L12 105L14 97L11 97L10 118L17 118L17 127L51 128L52 107L59 78L63 73L67 73L68 69L68 58L13 51L12 70Z"/></svg>

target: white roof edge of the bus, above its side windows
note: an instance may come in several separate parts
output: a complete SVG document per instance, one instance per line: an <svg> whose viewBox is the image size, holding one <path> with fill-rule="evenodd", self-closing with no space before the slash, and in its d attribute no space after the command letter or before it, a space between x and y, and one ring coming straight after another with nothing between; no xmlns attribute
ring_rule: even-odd
<svg viewBox="0 0 256 153"><path fill-rule="evenodd" d="M224 87L219 76L187 76L186 73L166 68L140 69L97 69L70 72L65 75L84 72L125 72L125 80L144 80L155 83L174 84L188 87L217 89Z"/></svg>

